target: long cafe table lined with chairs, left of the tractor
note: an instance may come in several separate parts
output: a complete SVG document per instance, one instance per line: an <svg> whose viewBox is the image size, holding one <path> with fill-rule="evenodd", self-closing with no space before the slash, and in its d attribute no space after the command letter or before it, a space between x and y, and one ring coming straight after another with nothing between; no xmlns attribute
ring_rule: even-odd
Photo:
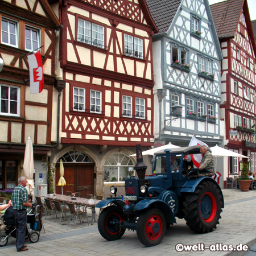
<svg viewBox="0 0 256 256"><path fill-rule="evenodd" d="M94 221L96 220L96 205L98 202L100 202L101 200L97 200L97 199L86 199L84 197L73 197L73 196L66 196L66 195L60 195L60 194L55 194L55 196L53 194L47 194L46 196L48 199L56 199L58 201L63 201L65 203L73 203L76 204L77 207L85 207L85 212L86 212L86 207L92 209L92 225L94 223ZM87 212L86 212L87 214Z"/></svg>

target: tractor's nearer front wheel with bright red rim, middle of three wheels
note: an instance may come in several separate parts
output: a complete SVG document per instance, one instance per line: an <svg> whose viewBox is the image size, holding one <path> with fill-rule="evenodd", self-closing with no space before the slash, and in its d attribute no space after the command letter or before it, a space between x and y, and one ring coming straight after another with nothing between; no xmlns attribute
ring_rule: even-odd
<svg viewBox="0 0 256 256"><path fill-rule="evenodd" d="M151 209L139 215L137 237L143 245L158 245L166 233L166 218L159 209Z"/></svg>

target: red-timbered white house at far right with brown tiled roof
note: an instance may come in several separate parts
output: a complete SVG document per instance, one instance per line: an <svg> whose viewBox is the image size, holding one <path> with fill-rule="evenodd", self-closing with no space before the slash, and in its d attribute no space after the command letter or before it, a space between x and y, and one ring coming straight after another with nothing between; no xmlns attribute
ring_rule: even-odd
<svg viewBox="0 0 256 256"><path fill-rule="evenodd" d="M228 0L210 6L223 60L221 63L220 118L224 120L224 146L250 156L256 171L255 40L246 0ZM225 162L225 177L240 175L239 161Z"/></svg>

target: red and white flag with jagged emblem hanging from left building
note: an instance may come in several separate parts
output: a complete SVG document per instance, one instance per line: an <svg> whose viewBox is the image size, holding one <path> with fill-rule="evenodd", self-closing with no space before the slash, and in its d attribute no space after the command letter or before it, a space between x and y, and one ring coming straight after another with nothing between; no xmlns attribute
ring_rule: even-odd
<svg viewBox="0 0 256 256"><path fill-rule="evenodd" d="M28 55L30 65L30 93L40 93L44 87L43 64L40 51Z"/></svg>

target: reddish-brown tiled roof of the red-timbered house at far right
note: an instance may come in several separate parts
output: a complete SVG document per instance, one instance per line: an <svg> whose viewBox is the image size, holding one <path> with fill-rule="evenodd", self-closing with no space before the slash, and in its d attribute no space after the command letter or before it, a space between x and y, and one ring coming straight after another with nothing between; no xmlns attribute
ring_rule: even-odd
<svg viewBox="0 0 256 256"><path fill-rule="evenodd" d="M227 0L210 6L218 38L234 36L244 0Z"/></svg>

